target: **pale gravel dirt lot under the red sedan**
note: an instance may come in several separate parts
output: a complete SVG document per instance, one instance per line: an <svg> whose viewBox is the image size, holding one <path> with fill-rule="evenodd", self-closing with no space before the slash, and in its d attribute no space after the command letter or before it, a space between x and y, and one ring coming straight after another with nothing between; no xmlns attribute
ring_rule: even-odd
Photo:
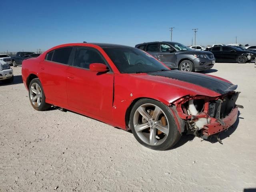
<svg viewBox="0 0 256 192"><path fill-rule="evenodd" d="M224 144L185 135L166 151L74 112L34 110L21 66L13 70L14 82L0 84L0 192L256 190L253 63L216 63L204 72L238 84L241 92L237 104L244 109L220 135Z"/></svg>

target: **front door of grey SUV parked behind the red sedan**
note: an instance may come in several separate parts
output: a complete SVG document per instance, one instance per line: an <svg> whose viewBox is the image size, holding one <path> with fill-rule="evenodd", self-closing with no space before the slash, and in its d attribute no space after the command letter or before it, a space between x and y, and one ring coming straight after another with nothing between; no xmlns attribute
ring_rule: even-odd
<svg viewBox="0 0 256 192"><path fill-rule="evenodd" d="M174 48L165 43L160 43L160 54L158 60L166 64L170 68L176 68L177 55Z"/></svg>

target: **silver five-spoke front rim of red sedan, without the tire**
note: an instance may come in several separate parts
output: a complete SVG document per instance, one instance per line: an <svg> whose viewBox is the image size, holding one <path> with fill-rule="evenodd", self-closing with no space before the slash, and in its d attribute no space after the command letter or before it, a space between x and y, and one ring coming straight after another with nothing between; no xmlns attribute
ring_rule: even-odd
<svg viewBox="0 0 256 192"><path fill-rule="evenodd" d="M162 144L169 134L169 123L166 115L154 104L142 104L133 117L134 130L146 144L157 146Z"/></svg>

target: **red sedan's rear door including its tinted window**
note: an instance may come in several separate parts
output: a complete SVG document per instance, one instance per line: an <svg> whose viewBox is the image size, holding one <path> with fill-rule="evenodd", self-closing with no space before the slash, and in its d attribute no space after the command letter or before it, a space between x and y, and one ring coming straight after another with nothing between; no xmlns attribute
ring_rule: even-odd
<svg viewBox="0 0 256 192"><path fill-rule="evenodd" d="M59 106L68 104L66 70L72 49L73 47L64 47L53 50L46 54L45 60L40 63L40 79L46 100L51 100Z"/></svg>

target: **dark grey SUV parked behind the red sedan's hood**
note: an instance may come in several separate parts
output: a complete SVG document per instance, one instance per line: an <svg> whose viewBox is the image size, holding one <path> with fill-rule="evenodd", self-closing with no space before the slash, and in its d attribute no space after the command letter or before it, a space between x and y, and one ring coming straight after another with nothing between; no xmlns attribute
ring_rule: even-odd
<svg viewBox="0 0 256 192"><path fill-rule="evenodd" d="M177 42L147 42L135 47L148 52L168 67L182 71L207 70L215 63L211 52L192 50Z"/></svg>

